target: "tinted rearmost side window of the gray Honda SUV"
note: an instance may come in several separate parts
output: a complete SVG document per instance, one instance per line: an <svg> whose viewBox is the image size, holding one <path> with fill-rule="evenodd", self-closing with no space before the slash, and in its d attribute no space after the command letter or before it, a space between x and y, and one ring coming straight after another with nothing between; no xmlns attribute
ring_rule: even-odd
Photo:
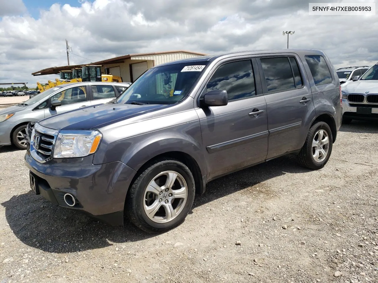
<svg viewBox="0 0 378 283"><path fill-rule="evenodd" d="M305 56L308 67L310 68L315 85L325 85L332 83L331 72L323 56Z"/></svg>

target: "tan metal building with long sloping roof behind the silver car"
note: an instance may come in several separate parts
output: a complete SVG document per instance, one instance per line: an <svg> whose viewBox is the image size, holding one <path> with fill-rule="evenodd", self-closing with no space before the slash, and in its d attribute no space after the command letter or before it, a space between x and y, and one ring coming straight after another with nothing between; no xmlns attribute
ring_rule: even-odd
<svg viewBox="0 0 378 283"><path fill-rule="evenodd" d="M155 53L129 54L114 57L98 62L88 63L90 65L101 65L102 74L112 74L122 77L123 82L134 82L141 74L153 66L171 62L179 59L192 58L207 54L191 51L167 51ZM51 75L59 74L59 71L79 68L81 65L59 66L42 69L32 73L32 75Z"/></svg>

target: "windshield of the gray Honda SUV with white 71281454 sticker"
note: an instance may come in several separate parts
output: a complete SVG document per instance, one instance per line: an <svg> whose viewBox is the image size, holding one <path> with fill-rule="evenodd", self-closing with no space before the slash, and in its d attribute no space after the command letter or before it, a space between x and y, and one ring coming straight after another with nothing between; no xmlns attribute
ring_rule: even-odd
<svg viewBox="0 0 378 283"><path fill-rule="evenodd" d="M207 61L186 62L149 69L115 103L176 103L189 94L207 65Z"/></svg>

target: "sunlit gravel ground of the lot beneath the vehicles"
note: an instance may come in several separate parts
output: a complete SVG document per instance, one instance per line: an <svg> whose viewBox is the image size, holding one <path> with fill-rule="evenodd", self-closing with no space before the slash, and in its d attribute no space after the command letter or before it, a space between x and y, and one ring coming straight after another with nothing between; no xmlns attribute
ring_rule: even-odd
<svg viewBox="0 0 378 283"><path fill-rule="evenodd" d="M378 124L343 125L319 171L294 157L219 178L148 235L52 205L0 149L0 282L378 282Z"/></svg>

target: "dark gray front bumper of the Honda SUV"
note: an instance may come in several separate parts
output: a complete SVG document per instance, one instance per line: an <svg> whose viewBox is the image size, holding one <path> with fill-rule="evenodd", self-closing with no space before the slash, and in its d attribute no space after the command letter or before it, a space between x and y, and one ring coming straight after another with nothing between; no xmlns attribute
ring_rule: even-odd
<svg viewBox="0 0 378 283"><path fill-rule="evenodd" d="M36 176L40 194L65 208L85 212L110 225L123 225L127 190L135 171L122 162L93 165L93 155L39 163L25 154L25 164ZM70 193L77 203L70 207L64 195Z"/></svg>

